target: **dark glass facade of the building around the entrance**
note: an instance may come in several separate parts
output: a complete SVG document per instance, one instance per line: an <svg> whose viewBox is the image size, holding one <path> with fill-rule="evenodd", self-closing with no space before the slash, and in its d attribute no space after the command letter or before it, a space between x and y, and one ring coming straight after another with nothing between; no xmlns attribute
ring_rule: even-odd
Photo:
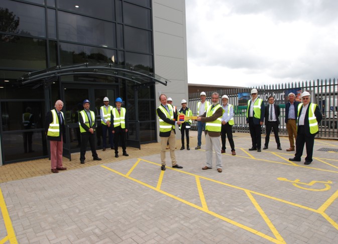
<svg viewBox="0 0 338 244"><path fill-rule="evenodd" d="M79 104L89 99L97 103L91 109L97 109L102 96L110 96L111 101L122 97L131 122L140 123L141 143L156 140L154 85L135 88L132 81L99 74L18 82L29 72L69 64L120 64L154 72L151 8L150 0L0 2L3 163L48 156L45 115L58 99L64 102L66 122L71 125L68 134L75 144L79 141L73 115ZM85 98L78 92L84 87ZM32 120L30 128L23 124L25 114ZM70 148L77 150L74 143Z"/></svg>

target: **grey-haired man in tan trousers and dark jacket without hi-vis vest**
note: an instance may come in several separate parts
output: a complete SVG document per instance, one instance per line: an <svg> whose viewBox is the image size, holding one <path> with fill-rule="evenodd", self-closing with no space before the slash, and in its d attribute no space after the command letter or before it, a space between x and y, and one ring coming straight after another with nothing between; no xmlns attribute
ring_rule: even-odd
<svg viewBox="0 0 338 244"><path fill-rule="evenodd" d="M289 102L285 104L285 124L290 141L290 148L286 151L290 152L295 150L293 137L295 140L297 139L297 108L299 102L295 101L296 96L292 92L289 93L288 97Z"/></svg>

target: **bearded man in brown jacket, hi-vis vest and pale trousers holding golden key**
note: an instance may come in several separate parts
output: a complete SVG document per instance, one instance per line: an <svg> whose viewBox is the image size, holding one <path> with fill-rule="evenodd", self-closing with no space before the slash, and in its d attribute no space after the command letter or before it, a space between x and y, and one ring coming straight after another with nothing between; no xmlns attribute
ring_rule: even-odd
<svg viewBox="0 0 338 244"><path fill-rule="evenodd" d="M206 151L206 165L202 168L212 168L212 147L216 155L216 168L219 173L222 172L222 155L220 153L220 131L221 118L223 115L222 106L219 105L219 95L217 92L211 95L212 104L207 107L204 114L197 117L197 121L205 123L205 151Z"/></svg>

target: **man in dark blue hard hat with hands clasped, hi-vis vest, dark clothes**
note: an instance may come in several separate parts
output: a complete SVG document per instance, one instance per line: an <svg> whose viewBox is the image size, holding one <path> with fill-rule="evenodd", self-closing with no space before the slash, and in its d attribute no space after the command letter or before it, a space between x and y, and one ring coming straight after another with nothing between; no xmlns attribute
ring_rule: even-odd
<svg viewBox="0 0 338 244"><path fill-rule="evenodd" d="M84 164L87 143L89 141L91 155L93 160L100 161L95 149L95 127L96 118L95 113L89 110L90 102L88 99L83 101L83 110L79 112L79 126L81 132L81 149L80 149L80 163Z"/></svg>

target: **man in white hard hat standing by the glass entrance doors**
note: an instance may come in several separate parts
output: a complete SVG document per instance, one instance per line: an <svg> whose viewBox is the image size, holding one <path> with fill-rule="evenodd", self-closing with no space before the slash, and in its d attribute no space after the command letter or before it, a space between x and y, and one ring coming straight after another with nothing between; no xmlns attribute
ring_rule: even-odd
<svg viewBox="0 0 338 244"><path fill-rule="evenodd" d="M107 131L108 131L108 139L109 139L109 144L110 148L114 149L114 142L112 141L113 134L111 133L112 131L112 126L110 124L111 121L111 110L112 106L109 105L109 98L104 97L103 98L103 106L100 107L100 117L101 117L101 126L102 126L102 151L105 151L106 145L107 145Z"/></svg>

